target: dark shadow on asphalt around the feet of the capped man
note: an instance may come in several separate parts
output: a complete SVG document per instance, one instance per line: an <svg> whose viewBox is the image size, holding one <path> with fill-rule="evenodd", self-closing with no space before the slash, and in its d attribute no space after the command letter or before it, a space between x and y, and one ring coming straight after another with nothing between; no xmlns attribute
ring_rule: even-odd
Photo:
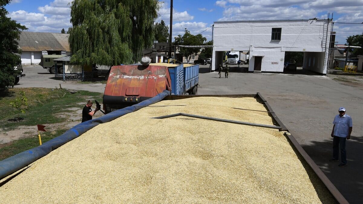
<svg viewBox="0 0 363 204"><path fill-rule="evenodd" d="M363 138L352 136L346 142L346 167L338 167L340 162L329 162L333 157L333 138L330 136L323 141L303 145L304 150L321 168L329 180L337 187L349 203L361 203L363 200ZM339 155L340 159L340 155ZM354 189L352 191L351 189Z"/></svg>

